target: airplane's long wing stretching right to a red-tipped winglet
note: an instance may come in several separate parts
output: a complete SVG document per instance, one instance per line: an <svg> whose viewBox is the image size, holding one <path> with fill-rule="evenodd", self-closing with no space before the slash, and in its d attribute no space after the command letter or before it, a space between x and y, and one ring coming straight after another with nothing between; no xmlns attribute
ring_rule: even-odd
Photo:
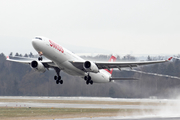
<svg viewBox="0 0 180 120"><path fill-rule="evenodd" d="M126 67L138 67L141 65L150 65L150 64L157 64L157 63L164 63L164 62L168 62L172 59L172 57L170 57L167 60L160 60L160 61L139 61L139 62L94 62L96 64L96 66L99 69L111 69L111 68L126 68ZM73 61L71 62L75 67L85 71L83 64L84 62L76 62Z"/></svg>

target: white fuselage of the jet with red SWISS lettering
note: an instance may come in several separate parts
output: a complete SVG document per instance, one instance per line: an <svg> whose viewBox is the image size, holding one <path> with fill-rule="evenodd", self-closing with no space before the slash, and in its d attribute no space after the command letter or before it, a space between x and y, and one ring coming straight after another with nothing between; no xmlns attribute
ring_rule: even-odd
<svg viewBox="0 0 180 120"><path fill-rule="evenodd" d="M91 79L95 83L100 82L110 82L109 78L111 74L108 73L106 70L99 70L98 73L93 72L84 72L76 68L70 61L81 61L85 62L84 59L80 58L79 56L75 55L71 51L65 49L64 47L56 44L52 40L47 38L41 37L42 40L32 39L32 45L37 52L42 52L43 55L52 60L60 70L73 75L73 76L80 76L84 77L89 74Z"/></svg>

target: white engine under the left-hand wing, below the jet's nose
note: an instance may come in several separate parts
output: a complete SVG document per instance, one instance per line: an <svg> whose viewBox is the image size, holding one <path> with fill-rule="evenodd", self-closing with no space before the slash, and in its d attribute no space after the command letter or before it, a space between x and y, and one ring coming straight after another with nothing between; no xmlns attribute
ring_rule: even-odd
<svg viewBox="0 0 180 120"><path fill-rule="evenodd" d="M44 67L44 65L39 62L39 61L32 61L31 64L30 64L31 68L35 71L38 71L38 72L45 72L46 71L46 68Z"/></svg>

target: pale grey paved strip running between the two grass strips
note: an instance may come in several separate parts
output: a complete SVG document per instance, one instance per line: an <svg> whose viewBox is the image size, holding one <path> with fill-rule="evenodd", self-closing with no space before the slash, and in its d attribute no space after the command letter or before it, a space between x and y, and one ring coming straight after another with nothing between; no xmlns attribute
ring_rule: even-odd
<svg viewBox="0 0 180 120"><path fill-rule="evenodd" d="M65 104L65 103L17 103L17 102L1 102L0 107L41 107L41 108L101 108L101 109L160 109L155 106L139 106L139 105L98 105L98 104Z"/></svg>

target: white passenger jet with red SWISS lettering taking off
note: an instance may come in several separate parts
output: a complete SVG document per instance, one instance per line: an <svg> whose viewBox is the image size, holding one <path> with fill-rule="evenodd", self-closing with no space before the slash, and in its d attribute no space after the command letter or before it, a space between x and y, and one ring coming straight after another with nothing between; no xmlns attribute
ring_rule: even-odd
<svg viewBox="0 0 180 120"><path fill-rule="evenodd" d="M8 61L29 64L32 69L44 73L47 69L53 68L57 75L54 76L56 84L63 84L60 72L64 71L73 76L80 76L86 84L108 83L114 80L137 80L136 78L112 77L113 68L131 68L141 65L168 62L172 59L159 61L136 61L136 62L115 62L116 57L111 56L108 62L93 62L84 60L56 42L42 36L32 39L32 46L38 52L39 57L12 57L7 56ZM43 59L45 56L47 59Z"/></svg>

